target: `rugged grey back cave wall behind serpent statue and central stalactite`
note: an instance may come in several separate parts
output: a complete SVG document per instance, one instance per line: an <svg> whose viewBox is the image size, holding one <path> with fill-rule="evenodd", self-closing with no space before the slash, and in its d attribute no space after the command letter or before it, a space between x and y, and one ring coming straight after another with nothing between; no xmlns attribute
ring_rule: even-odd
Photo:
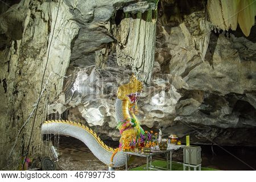
<svg viewBox="0 0 256 182"><path fill-rule="evenodd" d="M182 139L189 134L192 143L255 146L254 40L241 30L216 31L205 1L161 1L158 11L151 81L139 100L143 127ZM125 21L118 31L125 30ZM94 56L84 58L82 69L76 61L70 65L59 107L63 116L114 140L117 88L134 71L131 65L118 67L116 48L105 57L104 70L95 67Z"/></svg>

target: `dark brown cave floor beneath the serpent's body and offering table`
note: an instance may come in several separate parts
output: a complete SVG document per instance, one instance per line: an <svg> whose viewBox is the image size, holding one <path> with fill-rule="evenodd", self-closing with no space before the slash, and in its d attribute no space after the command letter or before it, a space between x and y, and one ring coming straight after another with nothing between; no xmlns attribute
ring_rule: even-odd
<svg viewBox="0 0 256 182"><path fill-rule="evenodd" d="M115 147L113 143L106 143L109 146ZM241 163L239 160L233 158L233 156L225 154L223 151L218 151L217 146L214 147L214 152L216 155L212 155L210 152L210 146L201 146L202 147L202 170L251 170L245 164ZM232 151L233 149L233 151ZM251 160L255 148L249 148L249 150L244 150L241 152L236 152L236 147L228 148L229 151L232 151L234 155L242 159L244 162L249 164L251 167L256 168L254 160ZM77 140L72 137L60 138L60 160L59 164L64 170L108 170L108 167L100 162L92 154L88 147L85 146L80 140ZM166 165L164 161L164 156L158 156L154 158L154 163L157 163L157 166ZM177 162L182 162L183 160L183 151L175 151L172 155L172 159ZM144 165L146 160L142 158L135 157L129 162L129 170L144 170ZM179 171L182 170L182 165L175 163L173 164L173 170ZM117 168L116 170L125 170L125 167Z"/></svg>

